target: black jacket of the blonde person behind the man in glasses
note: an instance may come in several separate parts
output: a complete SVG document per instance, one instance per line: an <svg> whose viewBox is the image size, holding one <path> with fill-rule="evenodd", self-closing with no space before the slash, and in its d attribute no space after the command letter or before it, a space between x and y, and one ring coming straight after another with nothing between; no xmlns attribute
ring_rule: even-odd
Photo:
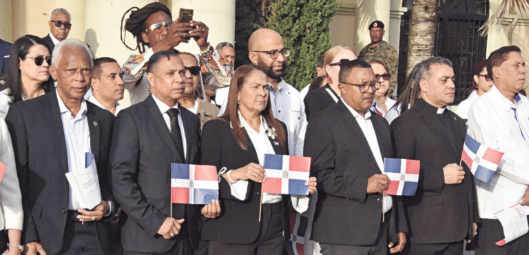
<svg viewBox="0 0 529 255"><path fill-rule="evenodd" d="M307 114L307 121L310 121L311 118L321 110L325 110L329 106L336 104L326 89L331 90L337 99L340 98L340 96L338 96L338 94L336 94L336 92L334 92L334 90L331 88L329 83L324 85L322 88L317 88L307 93L307 96L305 96L303 99L303 102L305 103L305 114Z"/></svg>

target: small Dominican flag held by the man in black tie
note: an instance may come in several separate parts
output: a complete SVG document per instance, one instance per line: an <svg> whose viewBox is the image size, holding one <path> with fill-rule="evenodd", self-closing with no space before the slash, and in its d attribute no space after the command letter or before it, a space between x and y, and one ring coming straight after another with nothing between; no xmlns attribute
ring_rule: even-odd
<svg viewBox="0 0 529 255"><path fill-rule="evenodd" d="M171 202L206 205L218 200L217 167L213 165L171 165Z"/></svg>

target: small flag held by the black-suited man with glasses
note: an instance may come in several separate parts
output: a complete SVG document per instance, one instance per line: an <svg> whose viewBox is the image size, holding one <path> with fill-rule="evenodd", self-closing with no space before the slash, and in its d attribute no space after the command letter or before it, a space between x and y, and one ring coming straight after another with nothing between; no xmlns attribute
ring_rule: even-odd
<svg viewBox="0 0 529 255"><path fill-rule="evenodd" d="M384 173L391 183L386 194L395 196L413 196L419 182L420 161L415 159L384 158Z"/></svg>

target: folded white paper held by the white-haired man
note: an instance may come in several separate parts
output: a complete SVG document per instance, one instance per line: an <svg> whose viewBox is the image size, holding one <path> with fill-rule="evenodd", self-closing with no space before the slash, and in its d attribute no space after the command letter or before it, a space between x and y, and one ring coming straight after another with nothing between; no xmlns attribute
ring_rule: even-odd
<svg viewBox="0 0 529 255"><path fill-rule="evenodd" d="M94 154L87 152L85 154L85 170L66 173L66 179L68 179L81 208L92 210L101 203L101 190Z"/></svg>

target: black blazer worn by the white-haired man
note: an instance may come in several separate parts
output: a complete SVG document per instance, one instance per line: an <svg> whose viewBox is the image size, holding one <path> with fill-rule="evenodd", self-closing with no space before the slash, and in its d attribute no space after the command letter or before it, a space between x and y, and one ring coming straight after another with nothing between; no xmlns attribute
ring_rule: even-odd
<svg viewBox="0 0 529 255"><path fill-rule="evenodd" d="M114 201L108 153L114 116L86 101L90 147L95 156L103 200ZM6 116L17 162L24 208L23 243L38 241L48 254L63 247L69 185L63 123L55 90L11 105ZM110 225L94 224L103 253L110 254Z"/></svg>

